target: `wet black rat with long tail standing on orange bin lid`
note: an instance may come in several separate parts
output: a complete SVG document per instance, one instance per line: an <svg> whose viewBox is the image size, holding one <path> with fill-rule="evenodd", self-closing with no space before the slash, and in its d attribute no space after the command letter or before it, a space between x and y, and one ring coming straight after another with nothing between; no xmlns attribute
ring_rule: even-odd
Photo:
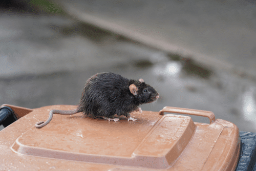
<svg viewBox="0 0 256 171"><path fill-rule="evenodd" d="M130 113L139 111L140 104L154 102L159 98L157 91L139 80L127 79L111 72L97 73L86 81L80 102L74 110L51 110L46 122L38 122L35 127L47 125L53 117L53 113L61 115L73 115L79 112L84 115L102 117L106 120L119 121L114 115L125 116L127 120L136 121Z"/></svg>

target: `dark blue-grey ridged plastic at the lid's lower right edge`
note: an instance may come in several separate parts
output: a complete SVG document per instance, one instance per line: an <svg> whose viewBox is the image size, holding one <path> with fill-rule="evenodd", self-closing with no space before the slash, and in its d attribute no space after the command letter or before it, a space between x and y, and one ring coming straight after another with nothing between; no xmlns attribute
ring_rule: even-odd
<svg viewBox="0 0 256 171"><path fill-rule="evenodd" d="M256 133L240 131L241 151L236 171L256 170Z"/></svg>

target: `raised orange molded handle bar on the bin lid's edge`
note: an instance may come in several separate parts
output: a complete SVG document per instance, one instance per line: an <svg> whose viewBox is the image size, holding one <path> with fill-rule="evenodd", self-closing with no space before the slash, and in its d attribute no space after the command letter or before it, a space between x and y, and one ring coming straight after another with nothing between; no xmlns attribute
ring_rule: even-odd
<svg viewBox="0 0 256 171"><path fill-rule="evenodd" d="M210 124L215 121L215 115L213 112L210 112L210 111L201 111L201 110L195 110L195 109L175 108L175 107L165 106L159 112L159 115L163 115L164 112L207 117L210 119Z"/></svg>

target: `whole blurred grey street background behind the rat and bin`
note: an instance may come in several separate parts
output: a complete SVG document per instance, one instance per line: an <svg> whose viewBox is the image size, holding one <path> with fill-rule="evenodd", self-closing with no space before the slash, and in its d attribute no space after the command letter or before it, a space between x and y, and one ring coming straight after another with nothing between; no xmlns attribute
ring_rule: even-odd
<svg viewBox="0 0 256 171"><path fill-rule="evenodd" d="M89 77L114 72L158 91L142 110L207 110L256 132L255 56L255 1L0 2L0 104L76 105Z"/></svg>

